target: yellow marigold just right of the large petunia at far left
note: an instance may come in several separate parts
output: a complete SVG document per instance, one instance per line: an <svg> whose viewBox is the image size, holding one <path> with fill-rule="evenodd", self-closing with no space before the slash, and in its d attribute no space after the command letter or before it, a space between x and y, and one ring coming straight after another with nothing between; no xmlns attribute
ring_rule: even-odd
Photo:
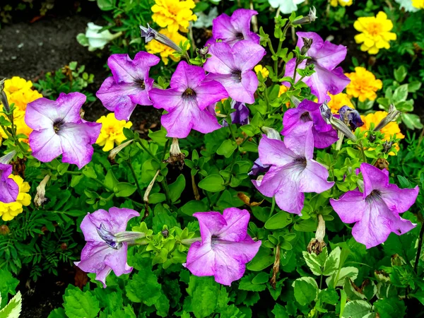
<svg viewBox="0 0 424 318"><path fill-rule="evenodd" d="M103 151L111 151L115 145L119 146L126 139L124 127L130 128L132 126L132 122L116 119L113 112L100 117L97 122L102 124L102 130L100 130L99 138L95 143L104 146Z"/></svg>

